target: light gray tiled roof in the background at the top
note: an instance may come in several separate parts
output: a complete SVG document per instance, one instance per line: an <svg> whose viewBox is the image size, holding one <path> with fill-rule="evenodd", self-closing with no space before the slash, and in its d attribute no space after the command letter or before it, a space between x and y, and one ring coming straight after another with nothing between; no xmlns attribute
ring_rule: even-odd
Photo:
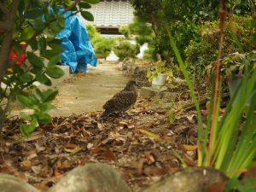
<svg viewBox="0 0 256 192"><path fill-rule="evenodd" d="M94 16L94 21L84 20L85 24L92 23L96 27L114 26L119 27L132 23L133 11L129 1L109 1L102 0L100 3L91 4L90 9L86 9Z"/></svg>

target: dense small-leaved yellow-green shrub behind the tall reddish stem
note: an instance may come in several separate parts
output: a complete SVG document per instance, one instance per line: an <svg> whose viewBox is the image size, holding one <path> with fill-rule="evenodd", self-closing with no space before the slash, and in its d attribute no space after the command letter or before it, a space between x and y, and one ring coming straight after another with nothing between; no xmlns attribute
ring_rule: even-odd
<svg viewBox="0 0 256 192"><path fill-rule="evenodd" d="M249 51L249 44L252 42L251 29L246 26L246 23L250 20L252 20L250 16L242 17L234 15L233 17L234 26L237 32L236 35L241 42L242 48L246 52ZM228 21L228 23L230 24L230 21ZM239 50L235 41L231 37L228 26L230 25L226 25L224 27L224 44L221 58L224 58L224 56L235 53L237 50ZM198 43L191 40L189 42L189 46L187 49L185 49L185 53L187 55L187 70L189 73L199 75L197 80L201 81L203 79L205 67L217 59L220 38L219 21L205 22L204 25L200 27L199 32L202 37L201 42ZM251 46L252 49L255 49L255 42L253 42Z"/></svg>

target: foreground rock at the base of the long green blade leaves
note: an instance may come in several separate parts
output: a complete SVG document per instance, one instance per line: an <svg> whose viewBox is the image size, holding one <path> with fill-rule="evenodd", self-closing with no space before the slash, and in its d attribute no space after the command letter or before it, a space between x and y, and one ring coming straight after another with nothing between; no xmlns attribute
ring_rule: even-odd
<svg viewBox="0 0 256 192"><path fill-rule="evenodd" d="M227 180L223 172L211 167L188 167L161 178L139 192L204 192L207 184Z"/></svg>

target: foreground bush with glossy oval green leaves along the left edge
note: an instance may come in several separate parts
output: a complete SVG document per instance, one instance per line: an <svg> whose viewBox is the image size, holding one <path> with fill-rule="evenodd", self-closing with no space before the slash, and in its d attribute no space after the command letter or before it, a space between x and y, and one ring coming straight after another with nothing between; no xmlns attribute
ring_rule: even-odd
<svg viewBox="0 0 256 192"><path fill-rule="evenodd" d="M0 136L10 103L15 100L33 110L29 115L20 113L22 119L31 121L29 124L20 121L20 131L25 137L31 136L38 123L47 124L51 121L48 112L55 107L50 102L55 99L58 91L43 92L33 83L38 81L50 86L50 78L58 79L64 75L61 68L56 66L64 49L60 45L61 39L55 37L64 29L66 18L74 12L80 12L84 19L93 21L93 15L82 9L90 9L90 3L99 3L99 0L44 2L0 1L0 84L5 84L5 88L0 88ZM28 46L31 51L26 51ZM9 60L12 53L16 55L13 60ZM19 65L15 64L21 55L26 55L31 66L26 66L24 60L20 60Z"/></svg>

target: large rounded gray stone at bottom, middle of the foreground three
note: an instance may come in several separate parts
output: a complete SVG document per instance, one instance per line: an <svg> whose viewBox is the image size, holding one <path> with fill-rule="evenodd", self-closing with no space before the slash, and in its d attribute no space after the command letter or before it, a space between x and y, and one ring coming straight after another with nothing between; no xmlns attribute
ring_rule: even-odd
<svg viewBox="0 0 256 192"><path fill-rule="evenodd" d="M78 166L61 178L49 192L129 192L118 171L102 163Z"/></svg>

